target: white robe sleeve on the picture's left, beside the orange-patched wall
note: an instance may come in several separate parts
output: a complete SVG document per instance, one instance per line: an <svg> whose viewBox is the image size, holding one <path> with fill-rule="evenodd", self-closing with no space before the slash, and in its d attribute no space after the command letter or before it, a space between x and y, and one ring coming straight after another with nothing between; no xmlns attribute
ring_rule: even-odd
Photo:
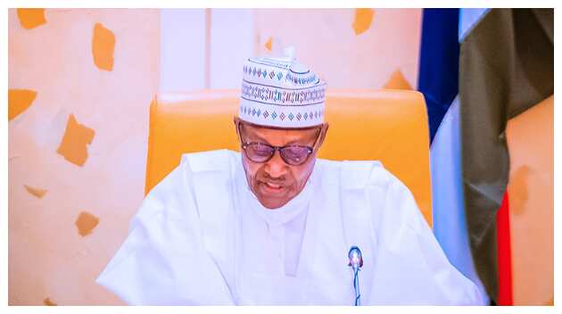
<svg viewBox="0 0 562 314"><path fill-rule="evenodd" d="M189 166L174 169L146 196L129 234L96 282L129 304L232 304L205 252Z"/></svg>

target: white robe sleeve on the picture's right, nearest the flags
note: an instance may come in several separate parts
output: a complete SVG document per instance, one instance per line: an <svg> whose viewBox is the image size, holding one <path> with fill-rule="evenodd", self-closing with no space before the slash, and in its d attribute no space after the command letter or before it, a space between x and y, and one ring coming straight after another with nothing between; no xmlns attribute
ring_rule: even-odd
<svg viewBox="0 0 562 314"><path fill-rule="evenodd" d="M408 187L383 167L374 167L371 181L376 181L368 186L372 194L381 195L381 186L385 192L384 201L370 202L377 249L369 300L378 304L483 305L476 285L447 260Z"/></svg>

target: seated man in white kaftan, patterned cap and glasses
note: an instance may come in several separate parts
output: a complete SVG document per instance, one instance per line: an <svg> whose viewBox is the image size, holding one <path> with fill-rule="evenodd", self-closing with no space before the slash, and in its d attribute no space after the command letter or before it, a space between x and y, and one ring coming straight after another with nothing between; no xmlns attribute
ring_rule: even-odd
<svg viewBox="0 0 562 314"><path fill-rule="evenodd" d="M482 304L399 179L317 159L325 88L291 57L246 61L241 153L185 154L97 282L130 304Z"/></svg>

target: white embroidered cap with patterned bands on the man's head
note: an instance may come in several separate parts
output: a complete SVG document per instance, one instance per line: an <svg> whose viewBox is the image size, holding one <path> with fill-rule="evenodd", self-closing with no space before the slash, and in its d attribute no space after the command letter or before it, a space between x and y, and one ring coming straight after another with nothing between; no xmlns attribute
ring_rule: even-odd
<svg viewBox="0 0 562 314"><path fill-rule="evenodd" d="M326 82L292 56L244 62L240 119L277 128L324 122Z"/></svg>

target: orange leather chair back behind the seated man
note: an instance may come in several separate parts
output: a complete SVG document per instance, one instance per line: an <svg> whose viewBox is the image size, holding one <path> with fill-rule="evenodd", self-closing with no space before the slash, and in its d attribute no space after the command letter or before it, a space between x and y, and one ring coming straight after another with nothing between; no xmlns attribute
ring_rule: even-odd
<svg viewBox="0 0 562 314"><path fill-rule="evenodd" d="M240 151L232 118L239 90L158 95L150 107L145 193L182 153ZM432 225L429 131L424 96L403 90L328 90L330 124L319 158L377 160L400 178Z"/></svg>

